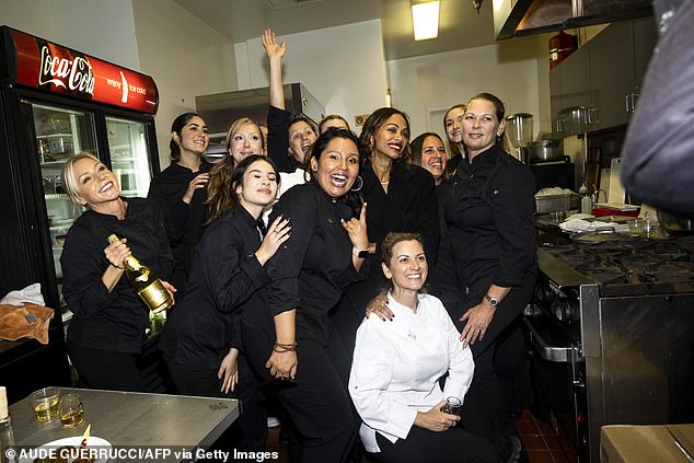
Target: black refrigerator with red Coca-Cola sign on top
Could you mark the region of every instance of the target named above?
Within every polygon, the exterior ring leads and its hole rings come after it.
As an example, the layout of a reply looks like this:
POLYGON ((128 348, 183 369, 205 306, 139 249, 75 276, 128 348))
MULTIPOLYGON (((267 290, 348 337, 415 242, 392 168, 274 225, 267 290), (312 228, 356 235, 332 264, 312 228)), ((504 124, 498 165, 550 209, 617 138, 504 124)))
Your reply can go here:
POLYGON ((71 312, 61 296, 60 254, 82 211, 61 185, 62 165, 89 151, 115 173, 124 196, 147 196, 159 172, 159 101, 142 73, 8 26, 0 39, 0 297, 41 282, 56 310, 48 345, 0 340, 0 384, 14 402, 69 381, 63 323, 71 312))

